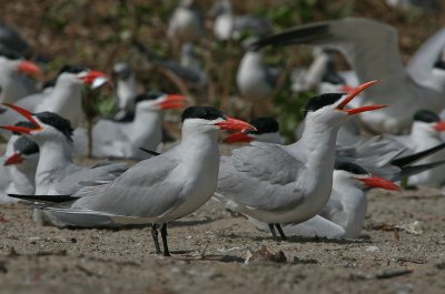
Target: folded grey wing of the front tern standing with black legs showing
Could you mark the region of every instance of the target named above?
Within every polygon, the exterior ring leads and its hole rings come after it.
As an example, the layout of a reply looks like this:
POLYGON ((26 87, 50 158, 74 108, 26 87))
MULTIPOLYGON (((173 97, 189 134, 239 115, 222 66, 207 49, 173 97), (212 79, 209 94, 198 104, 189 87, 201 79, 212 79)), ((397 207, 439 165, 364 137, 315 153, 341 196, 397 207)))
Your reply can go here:
POLYGON ((81 199, 72 209, 121 216, 162 215, 181 203, 184 183, 169 176, 178 164, 165 154, 141 161, 112 183, 79 191, 81 199))

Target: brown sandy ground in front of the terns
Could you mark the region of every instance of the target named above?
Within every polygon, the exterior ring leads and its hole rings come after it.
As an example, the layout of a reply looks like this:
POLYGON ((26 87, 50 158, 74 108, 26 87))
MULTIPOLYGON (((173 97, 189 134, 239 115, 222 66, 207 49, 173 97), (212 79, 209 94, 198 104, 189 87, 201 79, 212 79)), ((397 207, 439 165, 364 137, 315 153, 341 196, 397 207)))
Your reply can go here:
POLYGON ((0 293, 445 293, 444 209, 435 190, 374 191, 359 240, 277 243, 209 201, 170 225, 161 257, 148 227, 58 230, 2 206, 0 293), (419 234, 393 230, 415 221, 419 234), (277 256, 245 264, 257 251, 277 256))

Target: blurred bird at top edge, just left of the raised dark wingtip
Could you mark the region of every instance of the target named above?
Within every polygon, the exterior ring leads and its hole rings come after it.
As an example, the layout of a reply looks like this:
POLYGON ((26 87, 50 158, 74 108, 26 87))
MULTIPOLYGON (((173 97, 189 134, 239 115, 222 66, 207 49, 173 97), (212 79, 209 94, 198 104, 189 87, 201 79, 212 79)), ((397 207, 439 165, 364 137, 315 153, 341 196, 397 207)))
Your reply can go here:
POLYGON ((210 13, 216 17, 214 34, 220 41, 239 39, 243 32, 264 36, 273 31, 270 21, 265 18, 251 14, 235 16, 229 0, 215 2, 210 13))

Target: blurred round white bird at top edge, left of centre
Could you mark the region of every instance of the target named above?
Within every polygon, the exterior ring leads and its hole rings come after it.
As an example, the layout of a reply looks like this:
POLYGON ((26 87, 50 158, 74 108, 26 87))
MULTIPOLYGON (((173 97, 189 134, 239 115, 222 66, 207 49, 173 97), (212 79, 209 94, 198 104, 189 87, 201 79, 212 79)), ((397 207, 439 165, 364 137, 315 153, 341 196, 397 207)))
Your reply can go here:
POLYGON ((167 37, 171 40, 197 42, 204 34, 204 20, 194 0, 181 0, 168 23, 167 37))

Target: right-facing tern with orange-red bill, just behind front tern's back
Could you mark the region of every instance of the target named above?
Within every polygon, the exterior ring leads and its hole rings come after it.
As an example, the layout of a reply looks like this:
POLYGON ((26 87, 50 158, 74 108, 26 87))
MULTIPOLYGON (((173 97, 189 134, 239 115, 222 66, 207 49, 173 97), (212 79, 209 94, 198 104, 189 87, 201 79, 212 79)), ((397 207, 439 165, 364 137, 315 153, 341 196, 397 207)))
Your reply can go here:
MULTIPOLYGON (((135 115, 130 121, 99 120, 92 128, 92 155, 117 159, 147 159, 146 148, 158 150, 162 142, 164 111, 184 107, 185 97, 151 92, 135 99, 135 115)), ((86 141, 85 129, 76 131, 75 140, 86 141), (82 139, 83 138, 83 139, 82 139)), ((86 150, 77 145, 76 150, 86 150)))

